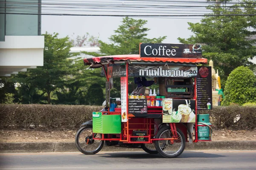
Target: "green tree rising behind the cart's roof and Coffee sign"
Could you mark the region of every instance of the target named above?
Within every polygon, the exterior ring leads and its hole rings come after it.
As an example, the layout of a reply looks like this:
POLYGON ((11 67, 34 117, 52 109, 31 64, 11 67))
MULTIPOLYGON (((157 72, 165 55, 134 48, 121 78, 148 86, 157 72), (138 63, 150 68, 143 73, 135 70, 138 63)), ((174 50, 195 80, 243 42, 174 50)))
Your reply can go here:
MULTIPOLYGON (((139 54, 139 44, 144 43, 161 43, 166 39, 158 37, 147 38, 147 31, 145 28, 146 20, 135 20, 133 18, 125 17, 122 24, 115 30, 115 34, 111 35, 109 40, 111 43, 105 43, 99 40, 99 47, 101 54, 82 51, 84 54, 99 57, 103 55, 121 55, 121 54, 139 54)), ((100 69, 95 69, 100 73, 100 69)), ((99 74, 98 74, 99 75, 99 74)), ((120 97, 120 79, 114 79, 114 88, 111 89, 111 97, 120 97)))

